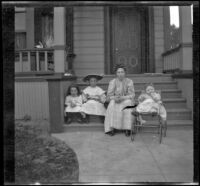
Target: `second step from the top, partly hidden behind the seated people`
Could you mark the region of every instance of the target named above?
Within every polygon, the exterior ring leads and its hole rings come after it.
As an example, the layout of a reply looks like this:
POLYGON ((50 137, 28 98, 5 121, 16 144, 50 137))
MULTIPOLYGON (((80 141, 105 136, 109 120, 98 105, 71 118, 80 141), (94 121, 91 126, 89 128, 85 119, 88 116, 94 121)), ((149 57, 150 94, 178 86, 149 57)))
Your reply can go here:
MULTIPOLYGON (((80 87, 80 89, 84 89, 85 87, 88 86, 87 83, 77 83, 80 87)), ((108 89, 108 83, 102 83, 99 82, 98 86, 100 86, 102 89, 107 90, 108 89)), ((145 83, 134 83, 134 88, 135 90, 144 90, 145 89, 146 84, 145 83)), ((159 81, 159 82, 155 82, 154 83, 155 89, 157 90, 167 90, 167 89, 177 89, 177 82, 175 81, 159 81)))

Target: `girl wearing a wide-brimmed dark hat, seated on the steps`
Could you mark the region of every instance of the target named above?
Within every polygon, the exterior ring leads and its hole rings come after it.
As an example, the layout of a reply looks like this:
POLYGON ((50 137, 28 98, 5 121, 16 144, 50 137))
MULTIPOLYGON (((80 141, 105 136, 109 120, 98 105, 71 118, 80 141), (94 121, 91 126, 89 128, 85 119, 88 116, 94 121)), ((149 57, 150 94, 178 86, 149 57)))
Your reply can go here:
MULTIPOLYGON (((87 115, 105 116, 105 91, 97 86, 97 82, 102 78, 103 77, 99 75, 88 75, 83 79, 83 81, 89 82, 89 86, 83 90, 84 104, 81 108, 81 111, 87 115)), ((87 120, 88 118, 86 119, 86 121, 87 120)))

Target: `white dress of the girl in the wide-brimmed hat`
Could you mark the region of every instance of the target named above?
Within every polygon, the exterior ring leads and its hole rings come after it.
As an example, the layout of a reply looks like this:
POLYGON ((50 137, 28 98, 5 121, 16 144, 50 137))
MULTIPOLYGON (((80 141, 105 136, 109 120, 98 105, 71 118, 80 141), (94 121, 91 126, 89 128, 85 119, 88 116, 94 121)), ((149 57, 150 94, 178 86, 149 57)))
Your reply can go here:
POLYGON ((104 102, 106 101, 105 91, 96 86, 91 87, 88 86, 83 90, 83 101, 85 102, 82 105, 81 111, 88 114, 88 115, 98 115, 98 116, 105 116, 106 108, 104 106, 104 102), (90 96, 99 96, 100 102, 92 99, 87 99, 85 96, 86 94, 90 96))

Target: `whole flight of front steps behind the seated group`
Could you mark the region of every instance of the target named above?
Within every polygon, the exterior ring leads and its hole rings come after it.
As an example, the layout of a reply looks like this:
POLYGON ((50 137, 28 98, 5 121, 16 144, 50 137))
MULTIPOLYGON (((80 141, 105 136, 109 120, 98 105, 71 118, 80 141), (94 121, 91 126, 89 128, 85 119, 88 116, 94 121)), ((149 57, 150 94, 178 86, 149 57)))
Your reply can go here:
MULTIPOLYGON (((99 82, 98 86, 107 91, 108 83, 112 80, 114 75, 106 75, 99 82)), ((182 92, 178 89, 177 82, 171 78, 170 74, 136 74, 127 75, 132 79, 135 88, 135 98, 137 99, 141 91, 144 90, 146 84, 153 83, 156 90, 161 90, 161 96, 165 108, 167 110, 168 126, 193 126, 192 112, 187 108, 187 100, 182 97, 182 92)), ((77 78, 77 84, 83 90, 87 85, 82 81, 83 77, 77 78)), ((191 91, 191 90, 188 90, 191 91)), ((144 116, 148 124, 155 124, 156 117, 144 116)), ((65 131, 88 131, 97 130, 103 131, 103 123, 100 122, 98 117, 92 116, 89 124, 76 124, 64 125, 65 131)))

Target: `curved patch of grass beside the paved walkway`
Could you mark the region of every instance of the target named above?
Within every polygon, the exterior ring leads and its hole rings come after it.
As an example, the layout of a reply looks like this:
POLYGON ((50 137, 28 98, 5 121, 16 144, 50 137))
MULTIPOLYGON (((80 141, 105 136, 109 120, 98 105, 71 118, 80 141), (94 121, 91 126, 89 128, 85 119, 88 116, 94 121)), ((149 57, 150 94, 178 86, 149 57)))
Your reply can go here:
POLYGON ((51 137, 48 122, 16 123, 15 181, 26 183, 78 182, 75 152, 63 141, 51 137))

